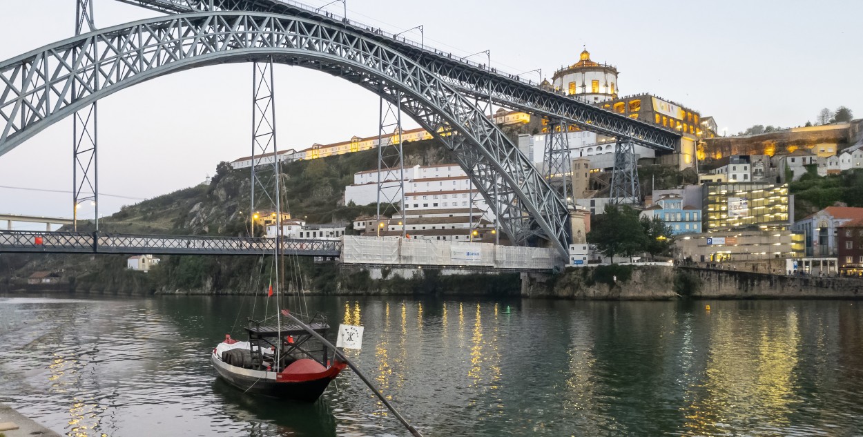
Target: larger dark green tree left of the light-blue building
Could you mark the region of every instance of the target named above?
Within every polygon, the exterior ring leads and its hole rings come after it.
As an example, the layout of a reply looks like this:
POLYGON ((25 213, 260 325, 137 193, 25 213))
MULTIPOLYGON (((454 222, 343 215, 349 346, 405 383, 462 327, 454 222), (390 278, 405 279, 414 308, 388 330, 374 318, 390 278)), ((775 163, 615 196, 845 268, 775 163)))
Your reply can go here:
POLYGON ((632 206, 606 205, 605 213, 594 216, 588 243, 614 263, 614 255, 632 257, 645 247, 645 232, 639 222, 639 212, 632 206))

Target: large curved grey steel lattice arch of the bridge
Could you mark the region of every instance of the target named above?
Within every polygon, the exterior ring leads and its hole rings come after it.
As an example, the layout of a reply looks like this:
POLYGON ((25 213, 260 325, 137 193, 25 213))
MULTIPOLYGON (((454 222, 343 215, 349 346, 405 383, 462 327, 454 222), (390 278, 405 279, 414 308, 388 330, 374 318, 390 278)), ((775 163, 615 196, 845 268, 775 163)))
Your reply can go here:
POLYGON ((317 69, 371 92, 400 90, 400 106, 443 140, 513 242, 547 238, 566 252, 567 210, 525 155, 457 90, 404 55, 338 24, 255 13, 152 18, 54 43, 0 63, 0 155, 87 104, 167 73, 262 60, 317 69), (72 52, 94 53, 72 63, 72 52), (96 79, 96 78, 99 79, 96 79), (38 80, 32 80, 38 78, 38 80), (72 95, 71 84, 79 84, 72 95), (496 187, 495 187, 496 186, 496 187))

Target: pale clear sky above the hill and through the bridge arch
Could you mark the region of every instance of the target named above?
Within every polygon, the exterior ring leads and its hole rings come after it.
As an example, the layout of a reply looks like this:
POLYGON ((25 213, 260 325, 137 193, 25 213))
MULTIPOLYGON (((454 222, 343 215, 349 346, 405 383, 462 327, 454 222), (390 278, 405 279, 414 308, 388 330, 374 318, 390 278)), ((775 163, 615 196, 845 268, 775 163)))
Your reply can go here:
MULTIPOLYGON (((99 27, 157 15, 95 1, 99 27)), ((74 3, 0 1, 0 60, 72 36, 74 3)), ((330 8, 340 12, 342 4, 330 8)), ((652 92, 714 116, 729 132, 796 126, 841 104, 863 116, 858 0, 348 0, 348 15, 391 31, 423 24, 427 45, 454 54, 488 48, 495 66, 542 68, 549 78, 586 45, 593 60, 618 67, 622 94, 652 92)), ((102 192, 150 198, 204 180, 218 161, 249 155, 251 69, 199 68, 102 100, 102 192)), ((276 81, 280 149, 376 132, 378 102, 369 92, 288 66, 276 69, 276 81)), ((67 119, 0 156, 0 186, 70 190, 71 136, 67 119)), ((100 209, 130 202, 104 197, 100 209)), ((69 217, 71 203, 71 194, 0 188, 0 212, 69 217)))

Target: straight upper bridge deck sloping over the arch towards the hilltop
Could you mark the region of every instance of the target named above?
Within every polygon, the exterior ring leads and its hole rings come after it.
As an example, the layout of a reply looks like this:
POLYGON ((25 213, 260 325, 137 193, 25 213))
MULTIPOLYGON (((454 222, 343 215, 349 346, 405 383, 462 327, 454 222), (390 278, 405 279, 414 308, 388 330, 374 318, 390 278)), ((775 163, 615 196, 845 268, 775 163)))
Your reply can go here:
MULTIPOLYGON (((273 12, 287 16, 303 16, 318 22, 333 22, 312 12, 312 8, 290 0, 118 0, 148 9, 168 13, 198 10, 248 10, 273 12)), ((490 73, 487 69, 471 65, 434 51, 424 50, 407 41, 399 41, 351 22, 339 22, 359 35, 392 48, 418 62, 431 73, 456 86, 463 94, 477 99, 488 99, 507 108, 527 111, 540 117, 562 119, 585 130, 639 142, 648 148, 672 151, 677 148, 681 135, 657 125, 621 116, 613 111, 598 108, 571 96, 527 84, 507 74, 490 73)))

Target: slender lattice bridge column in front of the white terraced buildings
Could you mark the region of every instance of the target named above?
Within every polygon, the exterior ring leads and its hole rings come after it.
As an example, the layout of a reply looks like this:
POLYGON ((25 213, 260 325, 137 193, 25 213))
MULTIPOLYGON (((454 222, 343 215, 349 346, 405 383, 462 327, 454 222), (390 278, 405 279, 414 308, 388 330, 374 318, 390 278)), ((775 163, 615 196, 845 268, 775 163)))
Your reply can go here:
MULTIPOLYGON (((382 218, 387 214, 393 217, 401 212, 401 237, 406 236, 407 220, 405 210, 405 155, 401 147, 401 91, 393 92, 395 102, 385 100, 381 92, 378 107, 378 193, 377 193, 377 235, 387 231, 382 218), (392 132, 392 133, 390 133, 392 132), (383 226, 381 226, 383 225, 383 226)), ((416 177, 416 175, 414 175, 416 177)))

